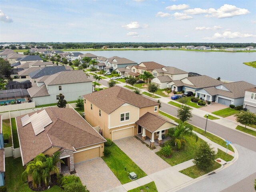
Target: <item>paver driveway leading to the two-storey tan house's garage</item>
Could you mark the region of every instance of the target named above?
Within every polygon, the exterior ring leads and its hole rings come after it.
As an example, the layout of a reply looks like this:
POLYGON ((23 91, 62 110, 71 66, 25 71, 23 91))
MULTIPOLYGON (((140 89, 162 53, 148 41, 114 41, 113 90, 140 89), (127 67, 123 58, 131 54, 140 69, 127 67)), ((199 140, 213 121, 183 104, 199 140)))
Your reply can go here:
POLYGON ((115 140, 114 143, 148 175, 170 167, 134 137, 115 140))

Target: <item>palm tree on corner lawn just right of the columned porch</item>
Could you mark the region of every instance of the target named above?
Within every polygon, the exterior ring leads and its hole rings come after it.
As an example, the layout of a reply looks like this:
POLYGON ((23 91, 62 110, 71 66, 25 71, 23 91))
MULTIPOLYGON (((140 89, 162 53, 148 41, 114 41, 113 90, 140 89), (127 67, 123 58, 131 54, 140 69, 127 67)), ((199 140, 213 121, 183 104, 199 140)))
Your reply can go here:
POLYGON ((170 128, 168 134, 175 139, 175 146, 177 145, 178 149, 181 148, 182 143, 186 144, 184 136, 192 136, 196 138, 196 142, 198 141, 198 136, 193 132, 193 127, 186 122, 180 123, 175 128, 170 128))

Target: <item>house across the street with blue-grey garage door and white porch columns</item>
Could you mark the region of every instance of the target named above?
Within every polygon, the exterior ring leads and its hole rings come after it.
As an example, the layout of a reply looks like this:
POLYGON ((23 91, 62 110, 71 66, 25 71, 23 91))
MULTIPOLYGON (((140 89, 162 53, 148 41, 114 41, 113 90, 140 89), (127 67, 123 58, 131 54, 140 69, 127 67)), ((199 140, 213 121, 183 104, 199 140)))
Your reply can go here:
MULTIPOLYGON (((244 104, 245 90, 256 87, 245 81, 223 83, 196 90, 196 96, 207 101, 215 101, 223 105, 240 106, 244 104)), ((247 96, 248 97, 248 96, 247 96)))

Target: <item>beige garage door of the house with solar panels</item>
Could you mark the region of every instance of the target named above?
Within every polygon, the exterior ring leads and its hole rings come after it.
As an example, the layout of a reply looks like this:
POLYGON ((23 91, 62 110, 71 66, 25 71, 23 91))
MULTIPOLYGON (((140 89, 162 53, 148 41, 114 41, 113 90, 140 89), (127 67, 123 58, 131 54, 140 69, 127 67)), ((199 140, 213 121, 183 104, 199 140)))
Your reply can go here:
POLYGON ((100 156, 100 147, 74 153, 74 163, 86 161, 100 156))

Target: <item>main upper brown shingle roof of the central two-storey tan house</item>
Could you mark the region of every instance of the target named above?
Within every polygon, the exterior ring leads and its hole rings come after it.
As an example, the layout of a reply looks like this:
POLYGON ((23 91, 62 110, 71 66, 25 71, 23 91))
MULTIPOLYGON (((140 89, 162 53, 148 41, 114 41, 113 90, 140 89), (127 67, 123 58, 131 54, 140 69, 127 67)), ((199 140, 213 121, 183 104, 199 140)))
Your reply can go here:
POLYGON ((138 108, 159 105, 155 101, 152 101, 119 86, 101 90, 100 92, 86 94, 84 95, 84 98, 107 114, 112 113, 114 110, 125 103, 134 105, 138 108))

